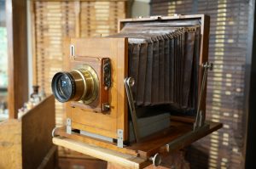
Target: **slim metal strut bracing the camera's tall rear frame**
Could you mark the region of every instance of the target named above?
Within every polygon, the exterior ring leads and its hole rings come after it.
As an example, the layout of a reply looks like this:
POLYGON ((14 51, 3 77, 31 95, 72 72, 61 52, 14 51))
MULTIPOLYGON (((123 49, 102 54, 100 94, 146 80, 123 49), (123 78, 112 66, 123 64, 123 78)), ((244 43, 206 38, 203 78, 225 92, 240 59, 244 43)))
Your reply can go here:
POLYGON ((204 74, 203 74, 203 78, 202 78, 202 82, 201 82, 201 91, 200 91, 199 101, 197 104, 197 112, 196 112, 195 123, 194 123, 194 131, 197 128, 202 127, 205 123, 206 118, 205 118, 205 114, 203 114, 203 112, 201 110, 201 99, 202 99, 202 95, 203 95, 206 85, 207 85, 208 70, 212 70, 213 64, 206 62, 206 63, 202 64, 202 67, 204 70, 204 74))

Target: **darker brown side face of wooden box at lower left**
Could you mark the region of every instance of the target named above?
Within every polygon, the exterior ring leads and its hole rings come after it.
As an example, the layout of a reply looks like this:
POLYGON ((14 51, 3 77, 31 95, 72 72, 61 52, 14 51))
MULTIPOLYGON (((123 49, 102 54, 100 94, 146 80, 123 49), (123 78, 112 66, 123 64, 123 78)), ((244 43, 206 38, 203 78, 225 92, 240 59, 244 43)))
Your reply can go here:
POLYGON ((51 95, 21 118, 24 168, 38 167, 52 147, 51 132, 55 127, 54 103, 54 96, 51 95))

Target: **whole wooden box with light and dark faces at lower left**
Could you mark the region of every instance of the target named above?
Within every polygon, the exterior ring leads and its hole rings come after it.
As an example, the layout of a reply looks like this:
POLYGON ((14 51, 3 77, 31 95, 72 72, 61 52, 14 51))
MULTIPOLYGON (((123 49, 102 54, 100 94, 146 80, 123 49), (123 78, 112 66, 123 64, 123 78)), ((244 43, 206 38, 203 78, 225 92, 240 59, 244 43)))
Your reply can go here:
POLYGON ((54 117, 51 95, 20 119, 1 122, 0 168, 55 168, 55 160, 51 158, 56 150, 51 142, 54 117))

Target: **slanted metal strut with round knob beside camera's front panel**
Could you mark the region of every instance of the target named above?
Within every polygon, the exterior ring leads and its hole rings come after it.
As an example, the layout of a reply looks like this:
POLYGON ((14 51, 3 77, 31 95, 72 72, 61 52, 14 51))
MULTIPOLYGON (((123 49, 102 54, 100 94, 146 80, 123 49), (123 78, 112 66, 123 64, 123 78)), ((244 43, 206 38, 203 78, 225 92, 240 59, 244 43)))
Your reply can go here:
POLYGON ((136 114, 135 104, 134 104, 133 95, 132 95, 132 91, 131 91, 131 87, 133 85, 134 85, 134 79, 132 77, 126 77, 125 78, 125 90, 126 90, 129 107, 130 107, 130 112, 131 112, 133 131, 135 134, 136 141, 139 142, 140 134, 139 134, 138 124, 137 124, 137 114, 136 114))

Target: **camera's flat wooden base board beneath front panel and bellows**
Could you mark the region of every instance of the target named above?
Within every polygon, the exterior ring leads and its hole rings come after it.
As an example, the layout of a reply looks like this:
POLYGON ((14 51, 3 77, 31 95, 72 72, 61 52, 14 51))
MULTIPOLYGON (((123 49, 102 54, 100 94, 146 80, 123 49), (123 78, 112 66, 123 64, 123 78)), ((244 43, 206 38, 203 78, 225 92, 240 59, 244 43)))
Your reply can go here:
POLYGON ((126 155, 139 156, 147 160, 156 153, 167 153, 168 150, 182 149, 192 144, 196 140, 205 137, 207 134, 214 132, 222 127, 221 123, 207 121, 204 127, 193 131, 193 125, 186 122, 173 121, 171 127, 157 132, 147 138, 143 138, 139 143, 134 143, 124 148, 119 148, 114 143, 102 141, 96 138, 90 138, 79 133, 73 132, 67 134, 66 127, 57 128, 55 135, 64 138, 70 138, 86 144, 96 145, 104 149, 111 149, 126 155), (169 144, 166 147, 166 144, 169 144), (168 149, 166 149, 168 148, 168 149))

